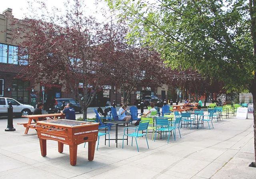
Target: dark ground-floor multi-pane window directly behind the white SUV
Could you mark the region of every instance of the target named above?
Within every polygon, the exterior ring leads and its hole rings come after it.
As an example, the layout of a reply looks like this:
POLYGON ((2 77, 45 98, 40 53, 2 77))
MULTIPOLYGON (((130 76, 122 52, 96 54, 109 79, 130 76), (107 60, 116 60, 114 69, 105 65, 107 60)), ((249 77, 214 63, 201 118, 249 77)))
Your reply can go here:
POLYGON ((29 102, 29 81, 12 80, 12 98, 22 104, 29 102))

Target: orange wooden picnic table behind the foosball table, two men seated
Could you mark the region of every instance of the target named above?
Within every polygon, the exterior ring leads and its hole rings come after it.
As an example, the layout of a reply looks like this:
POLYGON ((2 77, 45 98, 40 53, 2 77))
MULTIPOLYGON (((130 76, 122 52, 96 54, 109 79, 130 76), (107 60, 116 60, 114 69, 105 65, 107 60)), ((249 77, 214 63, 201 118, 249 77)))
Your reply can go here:
POLYGON ((39 121, 39 118, 50 118, 50 119, 54 119, 54 118, 58 118, 61 117, 62 119, 65 119, 65 114, 61 114, 61 113, 56 113, 56 114, 38 114, 38 115, 27 115, 27 116, 22 116, 24 118, 28 118, 28 122, 26 123, 17 123, 20 125, 23 125, 26 130, 25 130, 25 134, 28 134, 28 130, 29 128, 32 129, 37 129, 37 125, 36 122, 39 121), (36 120, 36 122, 32 122, 32 120, 36 120))

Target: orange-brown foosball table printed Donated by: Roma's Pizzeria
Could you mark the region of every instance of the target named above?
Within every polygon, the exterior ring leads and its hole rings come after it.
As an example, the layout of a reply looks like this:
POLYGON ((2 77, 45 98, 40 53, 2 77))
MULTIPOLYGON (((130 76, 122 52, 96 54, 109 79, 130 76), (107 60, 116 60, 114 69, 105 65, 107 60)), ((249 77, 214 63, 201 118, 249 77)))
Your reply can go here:
POLYGON ((41 155, 46 156, 46 140, 58 141, 58 151, 63 152, 63 144, 69 145, 70 164, 76 165, 77 146, 88 142, 88 160, 94 159, 94 150, 98 139, 96 122, 75 120, 47 120, 37 122, 37 134, 40 142, 41 155))

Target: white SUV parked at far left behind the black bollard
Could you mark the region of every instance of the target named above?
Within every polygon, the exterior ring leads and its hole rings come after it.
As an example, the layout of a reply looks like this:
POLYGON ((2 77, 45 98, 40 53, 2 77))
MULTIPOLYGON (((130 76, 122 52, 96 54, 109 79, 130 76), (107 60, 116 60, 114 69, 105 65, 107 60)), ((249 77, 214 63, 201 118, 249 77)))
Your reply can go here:
POLYGON ((12 98, 0 97, 0 116, 7 116, 9 102, 12 102, 14 116, 26 116, 32 114, 34 107, 27 104, 20 104, 12 98))

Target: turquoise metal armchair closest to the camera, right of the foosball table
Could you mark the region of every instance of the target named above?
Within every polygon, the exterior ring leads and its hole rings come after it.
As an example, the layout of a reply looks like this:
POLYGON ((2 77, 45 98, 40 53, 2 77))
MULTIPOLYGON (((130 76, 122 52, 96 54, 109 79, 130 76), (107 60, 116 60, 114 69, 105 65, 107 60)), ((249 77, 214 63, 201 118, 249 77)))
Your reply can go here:
MULTIPOLYGON (((133 142, 133 138, 135 138, 138 151, 139 151, 138 143, 137 143, 137 138, 138 137, 145 136, 146 141, 147 141, 147 145, 148 145, 148 139, 147 139, 148 124, 149 124, 149 120, 144 120, 144 121, 140 121, 140 124, 136 128, 124 128, 123 146, 122 146, 122 148, 124 148, 124 136, 132 137, 132 142, 133 142), (135 130, 135 132, 133 132, 131 134, 126 134, 127 133, 126 130, 128 130, 128 129, 135 130), (140 132, 142 132, 143 130, 146 130, 146 133, 140 134, 140 132)), ((148 149, 149 149, 149 146, 148 146, 148 149)))

